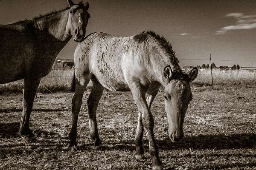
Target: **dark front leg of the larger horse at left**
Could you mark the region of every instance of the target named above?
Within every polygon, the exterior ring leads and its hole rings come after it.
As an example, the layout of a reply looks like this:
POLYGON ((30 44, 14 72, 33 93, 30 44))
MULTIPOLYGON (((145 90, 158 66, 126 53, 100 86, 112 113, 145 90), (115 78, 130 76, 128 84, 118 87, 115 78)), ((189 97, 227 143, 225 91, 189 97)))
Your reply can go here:
POLYGON ((29 129, 29 118, 39 83, 40 78, 24 79, 20 136, 25 136, 28 141, 35 141, 35 135, 32 133, 32 130, 29 129))

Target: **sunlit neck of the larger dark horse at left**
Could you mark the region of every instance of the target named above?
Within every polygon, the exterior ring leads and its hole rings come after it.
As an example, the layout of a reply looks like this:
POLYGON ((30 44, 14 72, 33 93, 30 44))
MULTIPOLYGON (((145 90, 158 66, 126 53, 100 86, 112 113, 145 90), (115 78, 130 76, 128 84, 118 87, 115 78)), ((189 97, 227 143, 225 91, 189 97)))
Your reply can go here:
MULTIPOLYGON (((54 37, 56 41, 68 42, 72 35, 66 32, 66 26, 68 21, 69 11, 61 11, 57 14, 53 14, 47 17, 35 20, 35 28, 38 29, 38 36, 54 37), (41 32, 47 33, 42 34, 41 32)), ((37 36, 37 35, 36 35, 37 36)))

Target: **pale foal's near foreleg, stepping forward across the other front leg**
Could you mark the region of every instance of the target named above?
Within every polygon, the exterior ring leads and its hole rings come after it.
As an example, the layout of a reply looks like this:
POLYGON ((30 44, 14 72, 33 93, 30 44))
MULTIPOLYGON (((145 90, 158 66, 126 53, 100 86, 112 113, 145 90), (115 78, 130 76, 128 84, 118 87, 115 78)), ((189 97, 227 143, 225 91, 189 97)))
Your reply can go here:
POLYGON ((133 82, 129 86, 140 112, 142 123, 148 132, 149 153, 153 161, 152 168, 154 170, 161 170, 163 169, 163 164, 160 161, 158 147, 154 139, 154 118, 148 107, 145 91, 143 91, 142 86, 137 82, 133 82))

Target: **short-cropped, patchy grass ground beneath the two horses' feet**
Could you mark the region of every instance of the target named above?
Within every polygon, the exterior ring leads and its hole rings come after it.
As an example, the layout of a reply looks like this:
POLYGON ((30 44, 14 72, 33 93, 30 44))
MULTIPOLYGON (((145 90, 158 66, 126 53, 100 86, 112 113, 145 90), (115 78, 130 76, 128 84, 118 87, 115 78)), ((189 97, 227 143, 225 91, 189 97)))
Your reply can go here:
MULTIPOLYGON (((256 170, 256 87, 192 88, 185 117, 185 139, 168 136, 163 91, 153 102, 154 134, 166 170, 256 170)), ((0 96, 0 169, 4 170, 147 170, 151 169, 148 138, 146 159, 135 159, 137 108, 131 92, 105 91, 97 111, 103 147, 89 138, 86 100, 79 114, 79 151, 68 153, 72 93, 38 94, 30 119, 37 142, 18 135, 22 94, 0 96)))

